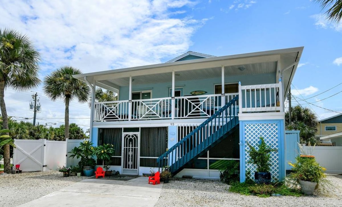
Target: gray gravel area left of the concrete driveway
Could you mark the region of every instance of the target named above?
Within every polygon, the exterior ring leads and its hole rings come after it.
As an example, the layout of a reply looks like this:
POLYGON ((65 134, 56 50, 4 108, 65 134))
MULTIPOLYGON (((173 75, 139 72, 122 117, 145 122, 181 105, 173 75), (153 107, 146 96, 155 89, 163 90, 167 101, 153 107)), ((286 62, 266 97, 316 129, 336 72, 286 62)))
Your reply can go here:
POLYGON ((57 171, 0 175, 0 206, 18 206, 85 178, 63 177, 62 172, 57 171))

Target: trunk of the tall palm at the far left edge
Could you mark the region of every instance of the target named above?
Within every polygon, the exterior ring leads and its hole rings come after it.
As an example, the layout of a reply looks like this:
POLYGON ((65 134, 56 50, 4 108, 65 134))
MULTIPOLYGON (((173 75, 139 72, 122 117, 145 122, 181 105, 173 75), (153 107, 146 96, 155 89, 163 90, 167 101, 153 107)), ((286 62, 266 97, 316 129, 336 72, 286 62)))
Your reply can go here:
MULTIPOLYGON (((6 105, 4 100, 4 92, 5 92, 5 82, 0 82, 0 108, 2 115, 2 128, 8 129, 8 116, 6 111, 6 105)), ((8 133, 7 133, 8 134, 8 133)), ((11 173, 11 157, 10 157, 10 146, 6 144, 3 148, 3 166, 4 172, 11 173)))

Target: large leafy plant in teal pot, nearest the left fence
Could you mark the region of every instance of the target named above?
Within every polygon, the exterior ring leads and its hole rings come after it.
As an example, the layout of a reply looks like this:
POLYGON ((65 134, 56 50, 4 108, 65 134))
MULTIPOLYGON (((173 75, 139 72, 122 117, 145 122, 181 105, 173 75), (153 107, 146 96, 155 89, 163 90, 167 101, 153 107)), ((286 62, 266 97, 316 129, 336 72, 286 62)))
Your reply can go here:
POLYGON ((95 159, 93 158, 95 148, 92 145, 92 142, 84 141, 80 143, 80 146, 74 147, 74 149, 68 152, 71 153, 70 157, 81 158, 78 166, 80 169, 83 169, 83 174, 88 177, 94 175, 94 167, 96 165, 95 159))

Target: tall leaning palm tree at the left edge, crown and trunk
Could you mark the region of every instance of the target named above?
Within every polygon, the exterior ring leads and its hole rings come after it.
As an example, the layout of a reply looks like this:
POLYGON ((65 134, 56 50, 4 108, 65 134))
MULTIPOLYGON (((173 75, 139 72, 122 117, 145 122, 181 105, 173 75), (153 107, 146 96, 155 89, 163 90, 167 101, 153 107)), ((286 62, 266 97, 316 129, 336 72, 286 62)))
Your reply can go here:
MULTIPOLYGON (((2 128, 8 129, 8 115, 4 91, 11 87, 18 91, 39 85, 40 54, 27 36, 9 29, 0 29, 0 108, 2 128)), ((4 146, 4 172, 10 173, 10 146, 4 146)))

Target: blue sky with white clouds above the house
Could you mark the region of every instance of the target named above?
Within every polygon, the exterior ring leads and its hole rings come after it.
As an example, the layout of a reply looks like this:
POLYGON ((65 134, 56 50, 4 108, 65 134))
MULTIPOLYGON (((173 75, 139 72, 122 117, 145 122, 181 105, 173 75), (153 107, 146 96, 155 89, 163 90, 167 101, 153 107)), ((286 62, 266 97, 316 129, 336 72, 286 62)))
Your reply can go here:
MULTIPOLYGON (((1 0, 0 28, 30 37, 42 54, 41 78, 66 64, 92 72, 162 63, 187 51, 222 56, 304 46, 295 96, 308 98, 342 82, 342 24, 329 23, 310 0, 108 2, 1 0)), ((50 101, 41 87, 32 91, 42 104, 38 121, 63 124, 63 102, 50 101)), ((319 101, 340 91, 342 85, 307 101, 342 112, 342 93, 319 101)), ((30 94, 9 89, 9 115, 31 118, 30 94)), ((311 107, 320 119, 337 114, 311 107)), ((70 117, 78 119, 70 121, 87 128, 89 113, 73 102, 70 117)))

